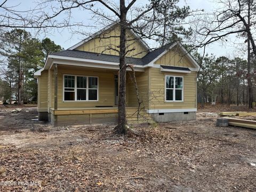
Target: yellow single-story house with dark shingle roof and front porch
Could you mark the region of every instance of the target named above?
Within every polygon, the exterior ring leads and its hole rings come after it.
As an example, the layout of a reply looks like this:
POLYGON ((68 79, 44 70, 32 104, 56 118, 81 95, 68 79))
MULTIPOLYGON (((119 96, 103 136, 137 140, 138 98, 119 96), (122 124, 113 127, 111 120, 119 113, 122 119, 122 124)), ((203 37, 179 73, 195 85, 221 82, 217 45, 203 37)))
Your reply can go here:
MULTIPOLYGON (((117 122, 119 27, 110 25, 68 50, 48 55, 38 79, 38 118, 53 125, 117 122), (117 36, 117 37, 116 37, 117 36), (103 53, 102 53, 103 52, 103 53)), ((146 119, 171 122, 196 118, 197 62, 180 43, 154 51, 127 31, 126 62, 134 65, 146 119), (147 118, 146 118, 147 117, 147 118)), ((127 69, 127 122, 138 102, 127 69)), ((132 117, 131 117, 132 116, 132 117)))

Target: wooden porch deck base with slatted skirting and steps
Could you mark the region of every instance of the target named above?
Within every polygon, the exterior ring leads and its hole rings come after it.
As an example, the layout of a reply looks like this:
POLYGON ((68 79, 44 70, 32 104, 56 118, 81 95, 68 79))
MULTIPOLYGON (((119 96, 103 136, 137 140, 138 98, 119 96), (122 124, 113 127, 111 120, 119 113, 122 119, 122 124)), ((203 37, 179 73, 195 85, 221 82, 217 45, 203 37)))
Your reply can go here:
MULTIPOLYGON (((137 107, 126 107, 127 124, 152 123, 153 119, 146 112, 141 110, 137 118, 137 107)), ((118 122, 117 107, 97 108, 50 108, 50 119, 54 126, 78 125, 78 124, 116 124, 118 122)))

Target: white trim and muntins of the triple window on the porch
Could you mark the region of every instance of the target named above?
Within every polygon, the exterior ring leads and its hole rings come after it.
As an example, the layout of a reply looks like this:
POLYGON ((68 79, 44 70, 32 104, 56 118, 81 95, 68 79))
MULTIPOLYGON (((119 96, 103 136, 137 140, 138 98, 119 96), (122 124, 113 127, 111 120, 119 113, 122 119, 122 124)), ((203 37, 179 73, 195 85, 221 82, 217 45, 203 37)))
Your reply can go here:
MULTIPOLYGON (((97 76, 90 76, 90 75, 70 75, 70 74, 63 74, 63 91, 62 91, 62 101, 63 102, 95 102, 95 101, 99 101, 99 77, 97 76), (65 100, 65 75, 66 76, 75 76, 75 100, 65 100), (77 77, 86 77, 86 88, 78 88, 78 89, 85 89, 86 90, 86 100, 77 100, 77 77), (98 86, 97 86, 97 100, 89 100, 89 77, 96 77, 98 79, 98 86)), ((68 88, 67 88, 68 89, 68 88)), ((69 89, 73 89, 70 88, 69 89)), ((96 89, 92 89, 90 88, 90 90, 96 90, 96 89)), ((67 91, 68 92, 68 91, 67 91)), ((70 91, 73 92, 73 91, 70 91)))

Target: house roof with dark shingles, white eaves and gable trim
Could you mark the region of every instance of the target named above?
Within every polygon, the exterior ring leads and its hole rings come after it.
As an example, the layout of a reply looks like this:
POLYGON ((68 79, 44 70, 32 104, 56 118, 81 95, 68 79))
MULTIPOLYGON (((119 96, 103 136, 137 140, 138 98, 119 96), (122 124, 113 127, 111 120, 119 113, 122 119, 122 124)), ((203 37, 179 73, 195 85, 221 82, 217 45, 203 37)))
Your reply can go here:
MULTIPOLYGON (((42 69, 39 69, 38 71, 36 71, 34 73, 34 76, 38 77, 41 75, 41 72, 43 70, 45 70, 45 69, 47 70, 47 69, 51 68, 51 66, 53 65, 54 59, 58 60, 58 61, 55 60, 55 62, 56 61, 57 62, 65 61, 65 64, 69 63, 69 65, 71 65, 70 61, 72 61, 72 62, 75 61, 75 62, 80 62, 79 63, 80 66, 96 67, 94 64, 97 64, 98 67, 100 67, 100 68, 118 69, 118 66, 119 66, 119 56, 118 55, 110 55, 110 54, 102 54, 102 53, 100 54, 100 53, 94 53, 94 52, 75 50, 76 47, 82 45, 83 43, 85 43, 87 41, 90 41, 91 38, 101 34, 102 31, 104 31, 104 30, 110 29, 115 24, 116 23, 114 23, 114 24, 112 23, 111 25, 107 26, 106 28, 93 34, 91 37, 88 37, 88 38, 84 39, 83 41, 77 43, 76 45, 70 47, 68 50, 49 54, 46 58, 44 67, 42 69)), ((143 71, 144 70, 143 68, 154 67, 155 61, 157 61, 165 53, 170 51, 174 46, 179 46, 181 48, 180 50, 184 53, 184 55, 188 58, 188 60, 194 66, 194 68, 191 68, 191 69, 193 69, 195 71, 198 71, 200 69, 200 66, 198 65, 198 63, 195 61, 195 59, 191 56, 191 54, 185 49, 185 47, 181 43, 173 42, 173 43, 164 45, 162 47, 159 47, 158 49, 155 49, 154 51, 150 51, 150 48, 148 47, 148 45, 145 42, 143 42, 142 39, 140 39, 139 36, 134 31, 132 31, 132 33, 133 33, 133 35, 138 37, 138 40, 141 42, 141 44, 145 45, 147 50, 149 50, 149 52, 143 58, 126 57, 126 62, 128 64, 136 65, 137 68, 139 68, 137 70, 143 71)), ((174 70, 174 69, 172 69, 172 70, 174 70)))

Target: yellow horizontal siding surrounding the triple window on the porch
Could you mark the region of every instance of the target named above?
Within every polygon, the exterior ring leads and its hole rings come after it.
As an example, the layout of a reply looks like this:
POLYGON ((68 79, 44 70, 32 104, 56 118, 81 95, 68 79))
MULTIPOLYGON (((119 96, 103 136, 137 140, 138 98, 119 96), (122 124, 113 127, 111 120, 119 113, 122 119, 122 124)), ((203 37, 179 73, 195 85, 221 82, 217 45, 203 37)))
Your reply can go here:
MULTIPOLYGON (((112 70, 70 67, 58 65, 58 108, 86 108, 95 106, 114 106, 114 75, 112 70), (63 101, 63 75, 98 77, 98 101, 63 101)), ((54 106, 54 74, 52 73, 52 106, 54 106)))

